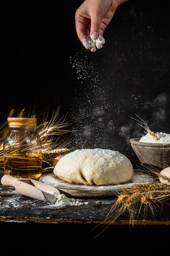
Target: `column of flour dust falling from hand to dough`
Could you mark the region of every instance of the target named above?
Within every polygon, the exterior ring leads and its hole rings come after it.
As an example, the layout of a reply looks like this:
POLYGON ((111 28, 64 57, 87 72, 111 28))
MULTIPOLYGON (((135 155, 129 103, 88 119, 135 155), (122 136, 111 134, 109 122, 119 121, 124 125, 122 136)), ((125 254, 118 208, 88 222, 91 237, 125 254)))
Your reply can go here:
POLYGON ((71 56, 71 65, 75 70, 75 146, 119 150, 114 143, 112 121, 108 120, 110 103, 98 61, 91 52, 77 51, 71 56))

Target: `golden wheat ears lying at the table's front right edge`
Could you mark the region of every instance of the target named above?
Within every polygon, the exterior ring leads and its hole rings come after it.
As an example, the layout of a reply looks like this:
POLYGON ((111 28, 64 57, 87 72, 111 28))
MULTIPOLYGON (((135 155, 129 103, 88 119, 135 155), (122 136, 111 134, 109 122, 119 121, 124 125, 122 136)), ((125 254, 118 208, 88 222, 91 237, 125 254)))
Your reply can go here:
MULTIPOLYGON (((146 172, 152 176, 152 182, 146 184, 134 184, 132 187, 117 193, 115 202, 109 207, 106 218, 99 224, 97 228, 97 236, 101 234, 109 225, 119 220, 119 217, 128 215, 129 225, 132 228, 135 221, 140 220, 144 223, 151 211, 152 218, 155 220, 155 213, 163 210, 163 202, 170 200, 170 185, 161 183, 159 177, 163 180, 170 178, 160 175, 159 170, 153 166, 143 166, 142 172, 146 172)), ((140 168, 141 171, 141 167, 140 168)))

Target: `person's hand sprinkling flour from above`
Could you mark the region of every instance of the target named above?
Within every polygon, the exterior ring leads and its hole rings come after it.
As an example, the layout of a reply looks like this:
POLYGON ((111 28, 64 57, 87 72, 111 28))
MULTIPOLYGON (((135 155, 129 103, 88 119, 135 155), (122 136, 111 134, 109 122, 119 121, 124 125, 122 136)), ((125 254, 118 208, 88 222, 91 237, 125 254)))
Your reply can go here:
POLYGON ((103 32, 120 4, 128 0, 85 0, 75 13, 75 28, 86 49, 95 52, 105 43, 103 32))

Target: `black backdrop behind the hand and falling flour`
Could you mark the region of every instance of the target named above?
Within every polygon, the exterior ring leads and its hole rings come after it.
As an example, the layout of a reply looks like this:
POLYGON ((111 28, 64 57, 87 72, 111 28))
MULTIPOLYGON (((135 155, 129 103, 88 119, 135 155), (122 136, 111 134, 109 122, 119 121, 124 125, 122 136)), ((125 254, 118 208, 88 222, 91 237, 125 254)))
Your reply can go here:
POLYGON ((1 9, 0 121, 11 108, 60 106, 77 130, 73 146, 134 154, 129 139, 144 129, 133 118, 170 133, 168 1, 119 6, 97 52, 86 50, 75 31, 82 2, 12 2, 1 9))

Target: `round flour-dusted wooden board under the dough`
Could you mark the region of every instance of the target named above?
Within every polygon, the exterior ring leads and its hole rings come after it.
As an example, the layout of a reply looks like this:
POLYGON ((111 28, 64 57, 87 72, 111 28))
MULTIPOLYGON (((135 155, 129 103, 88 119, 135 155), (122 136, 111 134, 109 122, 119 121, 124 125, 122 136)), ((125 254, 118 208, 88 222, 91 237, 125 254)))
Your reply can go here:
POLYGON ((152 178, 140 171, 134 171, 132 180, 124 184, 112 186, 91 186, 76 183, 68 183, 58 178, 54 173, 42 175, 40 182, 44 182, 56 187, 60 193, 72 198, 113 198, 117 192, 129 189, 134 184, 146 184, 152 181, 152 178))

